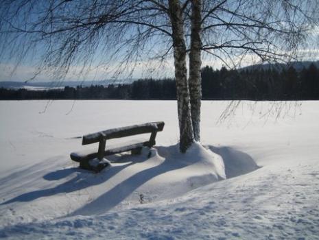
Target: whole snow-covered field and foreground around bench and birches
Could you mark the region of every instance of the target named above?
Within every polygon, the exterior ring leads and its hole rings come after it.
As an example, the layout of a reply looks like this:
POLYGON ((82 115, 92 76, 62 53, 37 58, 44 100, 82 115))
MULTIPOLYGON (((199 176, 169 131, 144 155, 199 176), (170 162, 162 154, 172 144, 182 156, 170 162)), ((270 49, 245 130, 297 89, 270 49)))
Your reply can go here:
POLYGON ((202 102, 204 147, 180 154, 175 101, 0 101, 0 238, 319 239, 319 101, 229 104, 202 102), (149 121, 150 158, 69 158, 149 121))

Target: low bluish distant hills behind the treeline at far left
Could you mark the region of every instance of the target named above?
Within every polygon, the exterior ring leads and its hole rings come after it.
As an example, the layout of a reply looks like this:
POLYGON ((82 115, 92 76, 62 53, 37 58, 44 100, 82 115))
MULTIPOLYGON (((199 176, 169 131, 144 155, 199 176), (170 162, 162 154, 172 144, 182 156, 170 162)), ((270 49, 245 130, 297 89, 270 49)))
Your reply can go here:
POLYGON ((108 86, 110 84, 130 84, 134 82, 134 79, 126 80, 102 80, 102 81, 59 81, 59 82, 14 82, 14 81, 4 81, 0 82, 0 88, 25 88, 29 90, 45 90, 45 89, 57 89, 64 88, 64 86, 91 86, 91 85, 102 85, 108 86))

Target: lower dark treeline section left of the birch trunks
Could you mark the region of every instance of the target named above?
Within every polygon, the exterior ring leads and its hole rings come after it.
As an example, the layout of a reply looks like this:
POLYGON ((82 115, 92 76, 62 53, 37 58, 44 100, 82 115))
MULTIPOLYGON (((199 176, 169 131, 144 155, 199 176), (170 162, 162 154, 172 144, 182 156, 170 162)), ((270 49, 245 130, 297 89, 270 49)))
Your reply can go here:
POLYGON ((132 84, 65 86, 40 91, 0 88, 0 99, 176 99, 176 86, 172 79, 146 79, 132 84))

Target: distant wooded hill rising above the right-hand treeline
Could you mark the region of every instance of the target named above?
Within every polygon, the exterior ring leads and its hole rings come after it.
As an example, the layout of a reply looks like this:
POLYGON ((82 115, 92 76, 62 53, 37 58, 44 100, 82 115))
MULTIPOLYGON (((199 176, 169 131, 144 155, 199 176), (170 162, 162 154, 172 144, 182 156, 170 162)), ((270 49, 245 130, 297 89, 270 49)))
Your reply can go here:
POLYGON ((290 63, 266 63, 266 64, 254 64, 248 67, 243 67, 241 70, 255 70, 255 69, 275 69, 277 71, 281 71, 282 69, 287 69, 292 66, 296 71, 301 71, 305 67, 306 69, 313 63, 317 68, 319 68, 319 60, 318 61, 301 61, 301 62, 290 62, 290 63))

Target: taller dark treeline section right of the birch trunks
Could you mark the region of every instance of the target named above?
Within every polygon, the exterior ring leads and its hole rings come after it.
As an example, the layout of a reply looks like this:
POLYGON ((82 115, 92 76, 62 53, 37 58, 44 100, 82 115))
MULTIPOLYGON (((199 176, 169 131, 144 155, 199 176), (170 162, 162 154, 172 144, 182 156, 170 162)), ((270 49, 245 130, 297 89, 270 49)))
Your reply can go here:
POLYGON ((314 64, 296 71, 282 69, 213 71, 202 69, 202 96, 205 99, 292 100, 319 99, 319 69, 314 64))

